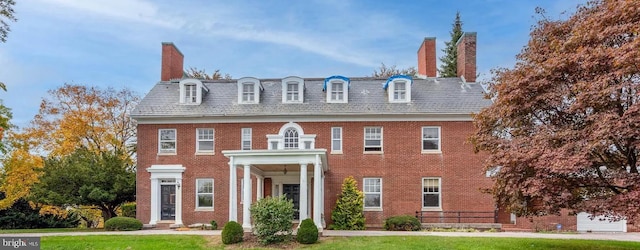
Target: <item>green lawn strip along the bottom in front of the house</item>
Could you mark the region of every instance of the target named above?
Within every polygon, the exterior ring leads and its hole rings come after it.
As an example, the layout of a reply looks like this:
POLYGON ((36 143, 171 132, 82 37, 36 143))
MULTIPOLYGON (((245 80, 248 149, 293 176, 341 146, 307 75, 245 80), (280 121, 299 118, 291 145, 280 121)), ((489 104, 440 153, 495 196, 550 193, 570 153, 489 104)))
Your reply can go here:
MULTIPOLYGON (((224 249, 220 236, 93 235, 43 237, 42 249, 224 249)), ((254 244, 249 245, 255 247, 254 244)), ((640 242, 437 236, 333 237, 305 249, 640 249, 640 242)), ((241 247, 234 245, 233 248, 241 247)), ((245 246, 246 247, 246 246, 245 246)))

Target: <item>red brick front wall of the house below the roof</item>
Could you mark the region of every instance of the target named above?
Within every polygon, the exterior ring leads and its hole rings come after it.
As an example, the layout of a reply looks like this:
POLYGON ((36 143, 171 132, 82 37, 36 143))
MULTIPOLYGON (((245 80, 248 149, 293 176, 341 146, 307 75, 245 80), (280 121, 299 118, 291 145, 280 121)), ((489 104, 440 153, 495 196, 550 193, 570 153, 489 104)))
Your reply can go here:
MULTIPOLYGON (((161 124, 138 125, 138 219, 149 221, 150 174, 153 164, 182 164, 183 222, 219 224, 228 220, 229 159, 222 150, 240 149, 241 128, 253 129, 253 149, 266 149, 266 134, 277 134, 284 122, 243 124, 161 124), (177 154, 157 154, 158 129, 177 129, 177 154), (196 128, 215 129, 215 155, 196 155, 196 128), (195 179, 214 179, 214 211, 195 211, 195 179)), ((362 189, 365 177, 382 178, 382 211, 367 211, 370 226, 380 226, 384 218, 400 214, 414 215, 422 207, 422 178, 442 178, 443 211, 493 211, 489 195, 479 189, 491 185, 482 171, 482 155, 474 154, 467 138, 473 131, 471 122, 323 122, 298 123, 305 134, 316 134, 316 148, 331 149, 331 127, 343 129, 343 154, 328 153, 329 171, 325 178, 325 219, 330 223, 331 210, 341 191, 344 178, 353 176, 362 189), (383 127, 383 154, 363 154, 365 126, 383 127), (442 154, 422 154, 423 126, 440 126, 442 154)), ((242 172, 238 171, 238 178, 242 172)), ((265 183, 271 181, 266 179, 265 183)), ((240 181, 238 181, 240 185, 240 181)), ((255 188, 255 178, 253 187, 255 188)), ((238 192, 240 188, 238 188, 238 192)), ((270 192, 270 187, 265 188, 270 192)), ((252 192, 255 200, 255 192, 252 192)), ((238 199, 240 195, 238 194, 238 199)), ((310 197, 310 199, 312 199, 310 197)), ((239 203, 240 201, 238 201, 239 203)), ((242 219, 238 205, 238 219, 242 219)))

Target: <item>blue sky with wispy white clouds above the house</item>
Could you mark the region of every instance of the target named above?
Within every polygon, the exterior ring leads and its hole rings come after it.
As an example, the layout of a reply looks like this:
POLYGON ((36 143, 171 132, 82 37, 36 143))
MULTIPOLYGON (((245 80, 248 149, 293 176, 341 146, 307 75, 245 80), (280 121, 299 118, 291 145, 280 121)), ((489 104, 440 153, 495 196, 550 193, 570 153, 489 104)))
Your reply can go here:
MULTIPOLYGON (((233 78, 370 76, 381 63, 417 66, 425 37, 437 57, 456 11, 477 32, 477 72, 513 67, 532 25, 566 19, 584 0, 18 0, 0 43, 0 99, 12 123, 29 125, 47 91, 65 83, 129 88, 144 96, 160 80, 161 43, 185 68, 233 78)), ((440 61, 438 60, 438 67, 440 61)))

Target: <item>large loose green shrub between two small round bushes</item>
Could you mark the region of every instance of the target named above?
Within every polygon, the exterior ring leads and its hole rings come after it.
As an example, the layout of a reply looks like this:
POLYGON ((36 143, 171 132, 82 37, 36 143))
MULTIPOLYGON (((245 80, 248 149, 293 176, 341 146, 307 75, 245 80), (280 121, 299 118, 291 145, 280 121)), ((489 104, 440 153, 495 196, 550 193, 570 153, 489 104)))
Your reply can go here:
POLYGON ((266 245, 290 240, 293 212, 293 202, 284 196, 267 197, 251 205, 258 241, 266 245))

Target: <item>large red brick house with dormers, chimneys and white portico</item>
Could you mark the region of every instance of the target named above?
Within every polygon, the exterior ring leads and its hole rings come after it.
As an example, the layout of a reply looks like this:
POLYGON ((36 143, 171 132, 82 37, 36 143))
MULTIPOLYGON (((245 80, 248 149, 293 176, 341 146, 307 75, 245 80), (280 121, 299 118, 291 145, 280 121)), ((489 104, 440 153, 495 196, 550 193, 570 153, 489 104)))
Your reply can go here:
POLYGON ((467 141, 471 114, 491 104, 475 83, 476 34, 458 42, 458 77, 436 77, 435 44, 420 45, 414 77, 198 80, 183 77, 182 53, 163 43, 161 81, 132 113, 137 218, 250 229, 252 202, 286 195, 296 220, 322 229, 348 176, 365 194, 369 227, 416 211, 492 213, 479 191, 492 183, 484 156, 467 141))

